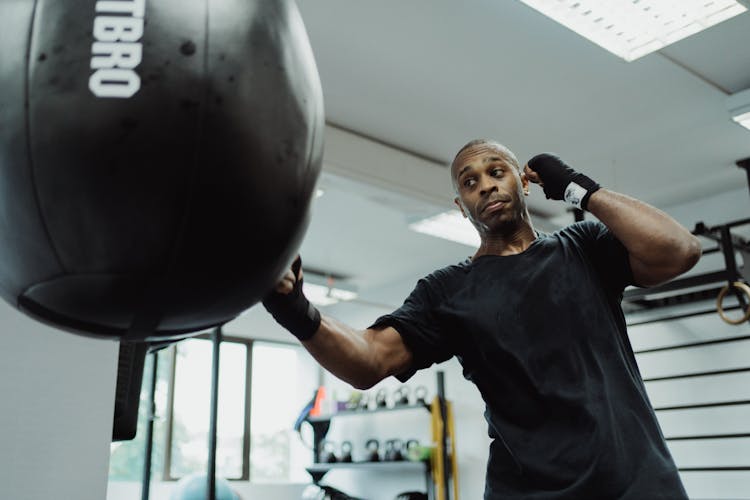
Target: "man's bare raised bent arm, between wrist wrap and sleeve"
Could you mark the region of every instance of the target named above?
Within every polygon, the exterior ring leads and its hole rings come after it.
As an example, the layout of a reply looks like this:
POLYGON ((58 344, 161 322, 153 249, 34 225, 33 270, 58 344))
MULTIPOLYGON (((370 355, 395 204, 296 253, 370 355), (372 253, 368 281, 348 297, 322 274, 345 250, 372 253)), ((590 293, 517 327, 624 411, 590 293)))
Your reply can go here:
POLYGON ((608 189, 586 207, 628 250, 634 281, 653 286, 692 268, 700 259, 698 238, 663 211, 608 189))

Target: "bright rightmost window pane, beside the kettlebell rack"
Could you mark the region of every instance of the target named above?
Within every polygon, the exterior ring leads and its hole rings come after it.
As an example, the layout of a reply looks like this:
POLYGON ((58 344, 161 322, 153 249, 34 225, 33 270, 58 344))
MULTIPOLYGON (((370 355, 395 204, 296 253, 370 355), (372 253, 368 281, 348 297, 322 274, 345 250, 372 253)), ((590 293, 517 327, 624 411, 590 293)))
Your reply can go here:
POLYGON ((309 482, 313 453, 293 428, 317 388, 317 364, 301 347, 255 342, 252 372, 251 481, 309 482))

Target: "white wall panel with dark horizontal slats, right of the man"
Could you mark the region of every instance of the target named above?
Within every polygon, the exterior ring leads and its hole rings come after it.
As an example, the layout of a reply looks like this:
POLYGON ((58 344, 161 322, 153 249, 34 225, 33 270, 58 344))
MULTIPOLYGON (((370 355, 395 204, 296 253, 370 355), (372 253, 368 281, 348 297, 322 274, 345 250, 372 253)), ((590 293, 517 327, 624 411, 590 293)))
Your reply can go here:
POLYGON ((750 499, 750 325, 723 322, 710 304, 659 314, 629 315, 628 332, 685 488, 750 499))

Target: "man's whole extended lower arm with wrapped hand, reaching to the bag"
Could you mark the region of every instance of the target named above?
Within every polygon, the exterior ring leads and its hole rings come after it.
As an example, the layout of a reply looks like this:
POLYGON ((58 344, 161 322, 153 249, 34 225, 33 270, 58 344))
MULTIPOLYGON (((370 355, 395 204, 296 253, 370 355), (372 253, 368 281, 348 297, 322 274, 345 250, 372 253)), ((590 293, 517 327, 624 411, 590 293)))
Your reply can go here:
POLYGON ((394 328, 359 331, 322 316, 305 297, 302 277, 297 258, 263 305, 325 369, 358 389, 368 389, 409 368, 412 353, 394 328))

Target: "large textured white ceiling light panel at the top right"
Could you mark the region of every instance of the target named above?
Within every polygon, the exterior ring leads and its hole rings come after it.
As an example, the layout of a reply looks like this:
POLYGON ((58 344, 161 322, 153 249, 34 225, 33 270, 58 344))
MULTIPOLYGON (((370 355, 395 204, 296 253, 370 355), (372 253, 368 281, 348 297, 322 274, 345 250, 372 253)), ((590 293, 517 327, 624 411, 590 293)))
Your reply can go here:
POLYGON ((737 0, 521 1, 626 61, 747 10, 737 0))

